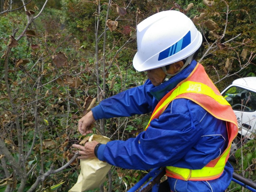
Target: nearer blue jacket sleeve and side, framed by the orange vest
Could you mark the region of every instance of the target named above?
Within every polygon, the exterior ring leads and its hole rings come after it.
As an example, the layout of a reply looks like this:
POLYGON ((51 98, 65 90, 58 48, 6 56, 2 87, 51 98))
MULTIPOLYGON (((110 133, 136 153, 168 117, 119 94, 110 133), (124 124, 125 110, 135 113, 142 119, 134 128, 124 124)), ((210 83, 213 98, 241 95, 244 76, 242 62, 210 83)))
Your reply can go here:
POLYGON ((189 106, 194 112, 191 111, 186 106, 188 101, 182 100, 184 102, 176 102, 175 107, 178 109, 172 111, 169 106, 159 119, 153 120, 148 129, 136 138, 109 141, 102 145, 98 158, 118 167, 141 170, 174 166, 178 162, 185 168, 199 169, 205 166, 219 156, 219 148, 225 145, 222 136, 214 131, 216 126, 225 124, 190 101, 189 106), (212 130, 213 136, 202 137, 205 133, 208 135, 209 130, 212 130), (197 148, 199 144, 203 147, 197 148), (190 150, 197 153, 196 163, 190 164, 190 158, 186 161, 190 150))

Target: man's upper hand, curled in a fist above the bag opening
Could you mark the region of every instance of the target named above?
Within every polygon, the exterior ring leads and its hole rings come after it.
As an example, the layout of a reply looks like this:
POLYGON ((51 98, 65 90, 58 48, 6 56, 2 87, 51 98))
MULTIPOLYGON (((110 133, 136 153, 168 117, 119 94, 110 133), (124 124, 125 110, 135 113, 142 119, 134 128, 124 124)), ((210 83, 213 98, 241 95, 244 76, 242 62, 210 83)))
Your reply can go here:
POLYGON ((78 121, 78 131, 82 135, 92 133, 91 125, 95 122, 92 111, 89 111, 84 117, 78 121))

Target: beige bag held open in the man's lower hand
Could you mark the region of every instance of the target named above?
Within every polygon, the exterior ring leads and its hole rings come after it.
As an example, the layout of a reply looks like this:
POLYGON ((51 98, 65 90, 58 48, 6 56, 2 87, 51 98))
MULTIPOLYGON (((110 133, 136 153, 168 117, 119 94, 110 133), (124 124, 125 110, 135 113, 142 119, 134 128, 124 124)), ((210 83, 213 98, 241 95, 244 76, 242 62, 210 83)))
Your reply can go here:
MULTIPOLYGON (((110 139, 102 135, 91 135, 88 142, 94 140, 106 144, 110 139)), ((81 141, 80 145, 84 143, 85 141, 81 141)), ((68 192, 83 192, 98 188, 106 180, 106 174, 111 168, 111 165, 97 158, 81 159, 80 168, 81 171, 78 175, 77 182, 68 192)))

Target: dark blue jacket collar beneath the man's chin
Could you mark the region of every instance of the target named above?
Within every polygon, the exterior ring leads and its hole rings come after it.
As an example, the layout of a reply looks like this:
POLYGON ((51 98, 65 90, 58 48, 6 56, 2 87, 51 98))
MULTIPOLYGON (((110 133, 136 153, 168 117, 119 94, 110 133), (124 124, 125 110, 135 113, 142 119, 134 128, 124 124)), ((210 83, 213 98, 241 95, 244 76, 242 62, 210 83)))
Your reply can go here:
POLYGON ((156 98, 156 100, 160 101, 170 90, 175 88, 178 83, 180 83, 189 76, 189 74, 195 68, 196 64, 197 62, 193 60, 190 65, 184 68, 180 73, 171 77, 168 81, 162 83, 161 85, 151 89, 150 93, 153 95, 153 97, 156 98))

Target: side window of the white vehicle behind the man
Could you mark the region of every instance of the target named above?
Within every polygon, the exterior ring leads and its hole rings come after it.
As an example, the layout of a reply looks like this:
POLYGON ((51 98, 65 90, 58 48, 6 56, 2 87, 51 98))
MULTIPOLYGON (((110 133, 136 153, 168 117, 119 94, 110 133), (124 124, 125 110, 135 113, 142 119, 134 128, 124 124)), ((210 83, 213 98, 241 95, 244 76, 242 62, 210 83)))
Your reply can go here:
POLYGON ((256 93, 240 88, 230 87, 222 96, 233 110, 253 112, 256 110, 256 93))

